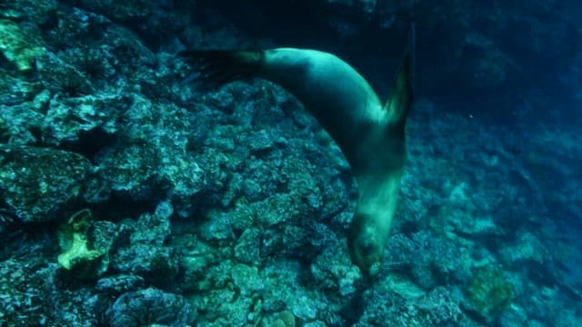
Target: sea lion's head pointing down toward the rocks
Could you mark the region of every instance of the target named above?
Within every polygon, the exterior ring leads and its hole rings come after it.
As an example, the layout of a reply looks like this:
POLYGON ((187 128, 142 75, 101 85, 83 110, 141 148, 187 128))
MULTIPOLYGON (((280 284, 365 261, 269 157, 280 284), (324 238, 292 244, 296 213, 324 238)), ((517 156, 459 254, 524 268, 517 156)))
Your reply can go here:
POLYGON ((376 227, 375 217, 356 213, 347 238, 352 263, 368 276, 376 276, 379 272, 386 246, 386 233, 376 227))

